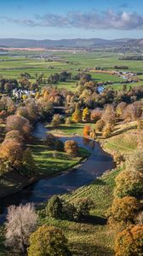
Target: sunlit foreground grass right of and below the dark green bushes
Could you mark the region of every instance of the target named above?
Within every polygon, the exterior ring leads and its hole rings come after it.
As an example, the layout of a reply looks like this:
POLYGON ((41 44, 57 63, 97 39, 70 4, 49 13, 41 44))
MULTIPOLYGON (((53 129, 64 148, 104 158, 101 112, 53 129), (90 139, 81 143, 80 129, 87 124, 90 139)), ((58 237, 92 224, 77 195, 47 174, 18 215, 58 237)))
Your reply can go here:
POLYGON ((95 203, 90 218, 85 222, 41 218, 41 224, 50 224, 64 231, 69 240, 72 255, 112 256, 114 234, 106 224, 106 210, 112 204, 114 178, 120 169, 106 173, 88 186, 77 189, 64 198, 73 202, 76 198, 89 197, 95 203))

